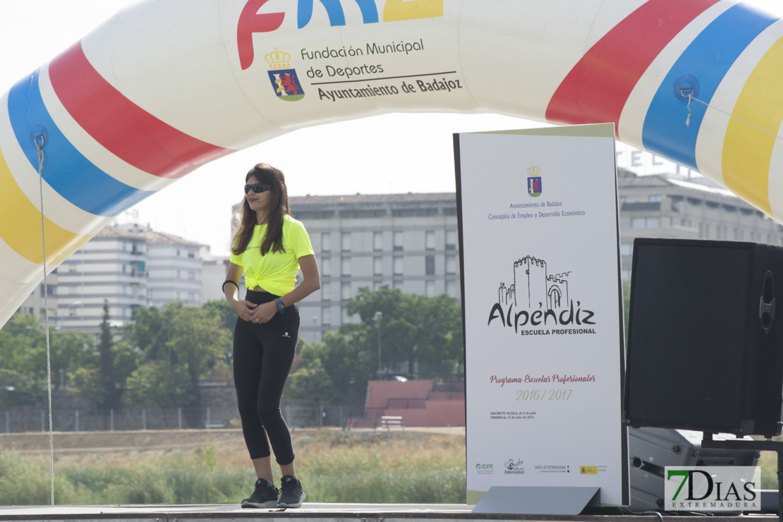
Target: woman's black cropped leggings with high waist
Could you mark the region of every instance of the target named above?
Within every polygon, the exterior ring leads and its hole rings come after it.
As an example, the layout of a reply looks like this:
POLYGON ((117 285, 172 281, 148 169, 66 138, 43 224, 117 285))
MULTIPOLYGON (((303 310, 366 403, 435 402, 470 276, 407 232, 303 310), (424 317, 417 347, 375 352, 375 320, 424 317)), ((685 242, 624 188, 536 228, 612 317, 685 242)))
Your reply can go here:
MULTIPOLYGON (((276 297, 269 292, 247 290, 245 300, 262 304, 276 297)), ((271 443, 277 463, 294 462, 290 432, 280 412, 280 396, 294 362, 298 338, 299 311, 295 305, 265 324, 236 318, 234 386, 251 459, 268 457, 271 443)))

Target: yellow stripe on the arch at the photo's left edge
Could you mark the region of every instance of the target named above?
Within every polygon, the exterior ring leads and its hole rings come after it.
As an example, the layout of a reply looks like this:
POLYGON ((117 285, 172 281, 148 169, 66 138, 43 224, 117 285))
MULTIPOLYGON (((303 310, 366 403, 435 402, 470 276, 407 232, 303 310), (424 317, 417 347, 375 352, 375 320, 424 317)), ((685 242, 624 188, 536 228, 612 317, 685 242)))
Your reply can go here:
MULTIPOLYGON (((0 149, 0 238, 16 254, 28 261, 43 265, 41 243, 41 211, 24 195, 0 149)), ((44 217, 46 238, 46 264, 60 265, 92 236, 85 236, 63 229, 44 217)))

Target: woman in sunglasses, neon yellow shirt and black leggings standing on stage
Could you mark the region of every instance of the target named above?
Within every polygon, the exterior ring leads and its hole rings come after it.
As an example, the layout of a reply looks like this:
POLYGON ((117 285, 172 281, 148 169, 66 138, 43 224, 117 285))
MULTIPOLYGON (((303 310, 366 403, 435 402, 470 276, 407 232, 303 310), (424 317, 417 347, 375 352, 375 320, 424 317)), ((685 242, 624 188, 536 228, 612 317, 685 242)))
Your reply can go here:
POLYGON ((280 412, 299 337, 295 303, 321 287, 316 256, 301 221, 290 216, 283 173, 258 164, 247 173, 241 222, 223 293, 238 318, 234 327, 234 385, 242 432, 258 480, 242 507, 299 507, 305 500, 294 471, 294 449, 280 412), (303 279, 296 285, 301 268, 303 279), (247 294, 239 298, 244 273, 247 294), (280 490, 272 478, 272 457, 283 473, 280 490), (280 499, 278 499, 280 494, 280 499))

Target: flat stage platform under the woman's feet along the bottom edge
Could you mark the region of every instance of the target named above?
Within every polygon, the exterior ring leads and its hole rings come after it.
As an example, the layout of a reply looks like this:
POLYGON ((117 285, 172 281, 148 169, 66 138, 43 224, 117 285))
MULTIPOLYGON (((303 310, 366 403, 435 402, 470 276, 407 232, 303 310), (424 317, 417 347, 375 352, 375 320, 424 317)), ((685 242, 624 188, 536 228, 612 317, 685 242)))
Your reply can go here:
MULTIPOLYGON (((362 522, 433 522, 434 520, 541 520, 544 522, 695 522, 698 517, 654 513, 622 514, 618 509, 595 509, 590 514, 524 515, 472 513, 473 506, 465 504, 322 504, 305 502, 298 509, 242 509, 238 504, 168 505, 168 506, 0 506, 0 522, 24 520, 139 520, 163 522, 164 520, 247 520, 264 518, 280 520, 306 519, 309 522, 337 522, 344 519, 360 519, 362 522)), ((751 514, 743 516, 713 516, 710 522, 773 522, 776 514, 751 514)))

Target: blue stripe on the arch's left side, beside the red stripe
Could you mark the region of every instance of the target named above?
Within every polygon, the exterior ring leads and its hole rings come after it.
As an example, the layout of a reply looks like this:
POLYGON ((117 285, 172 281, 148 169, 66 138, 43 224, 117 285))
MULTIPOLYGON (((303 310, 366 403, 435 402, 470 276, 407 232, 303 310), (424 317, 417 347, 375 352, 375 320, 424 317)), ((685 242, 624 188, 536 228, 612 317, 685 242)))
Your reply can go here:
MULTIPOLYGON (((96 107, 95 110, 101 109, 96 107)), ((44 105, 38 86, 38 70, 11 88, 8 112, 16 141, 36 171, 38 149, 31 135, 34 129, 45 128, 44 181, 81 210, 99 216, 115 216, 154 194, 118 182, 92 164, 63 135, 44 105)))

